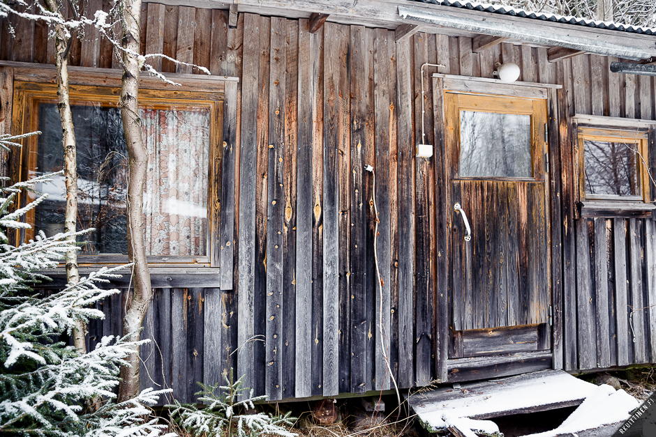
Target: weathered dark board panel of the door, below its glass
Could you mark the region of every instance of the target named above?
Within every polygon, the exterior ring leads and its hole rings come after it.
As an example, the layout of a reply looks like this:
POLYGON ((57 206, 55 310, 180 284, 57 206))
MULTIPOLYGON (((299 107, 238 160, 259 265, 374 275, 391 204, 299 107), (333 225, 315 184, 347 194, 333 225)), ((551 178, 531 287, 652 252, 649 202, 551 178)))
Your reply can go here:
POLYGON ((546 323, 549 253, 545 191, 535 181, 452 184, 472 239, 454 211, 454 330, 546 323))

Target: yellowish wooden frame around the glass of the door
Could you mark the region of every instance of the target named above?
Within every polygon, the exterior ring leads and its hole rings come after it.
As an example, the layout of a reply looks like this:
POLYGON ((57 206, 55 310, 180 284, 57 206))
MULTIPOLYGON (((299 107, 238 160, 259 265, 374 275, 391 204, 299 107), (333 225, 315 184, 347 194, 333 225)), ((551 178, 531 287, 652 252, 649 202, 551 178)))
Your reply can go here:
MULTIPOLYGON (((452 131, 458 144, 452 162, 456 166, 454 178, 462 180, 498 180, 498 181, 544 181, 549 172, 545 157, 549 153, 549 144, 544 140, 546 117, 546 98, 542 95, 527 93, 525 95, 474 94, 459 90, 445 89, 445 123, 446 129, 452 131), (531 120, 531 175, 530 177, 505 176, 461 176, 460 175, 460 112, 489 112, 494 114, 530 115, 531 120), (539 121, 538 121, 539 120, 539 121), (542 150, 540 152, 539 150, 542 150)), ((454 151, 455 152, 455 151, 454 151)))

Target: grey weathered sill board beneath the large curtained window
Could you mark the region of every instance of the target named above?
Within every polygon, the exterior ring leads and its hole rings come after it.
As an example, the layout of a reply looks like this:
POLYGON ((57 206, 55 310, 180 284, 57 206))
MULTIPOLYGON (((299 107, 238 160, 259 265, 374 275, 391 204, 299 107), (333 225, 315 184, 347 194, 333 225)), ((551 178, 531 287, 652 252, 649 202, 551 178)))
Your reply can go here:
MULTIPOLYGON (((80 276, 88 276, 91 272, 100 270, 102 266, 80 266, 80 276)), ((186 289, 192 287, 218 288, 221 283, 217 267, 150 267, 151 286, 154 289, 186 289)), ((36 284, 36 289, 60 289, 66 285, 66 268, 41 270, 38 273, 52 278, 52 281, 36 284)), ((122 277, 110 279, 107 286, 100 288, 127 288, 131 284, 130 269, 124 268, 115 272, 122 277)), ((230 290, 227 290, 230 291, 230 290)))

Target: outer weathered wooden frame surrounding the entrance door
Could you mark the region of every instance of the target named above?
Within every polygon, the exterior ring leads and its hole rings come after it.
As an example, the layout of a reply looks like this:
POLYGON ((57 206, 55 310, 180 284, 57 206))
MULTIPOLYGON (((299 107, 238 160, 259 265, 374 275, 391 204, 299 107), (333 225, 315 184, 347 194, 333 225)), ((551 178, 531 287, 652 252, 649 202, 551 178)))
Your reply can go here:
MULTIPOLYGON (((537 98, 546 100, 546 121, 548 125, 546 147, 549 155, 549 169, 546 172, 546 203, 549 213, 549 256, 551 256, 551 367, 562 368, 562 252, 561 252, 561 218, 560 218, 560 144, 558 118, 558 100, 564 98, 558 89, 562 86, 554 84, 538 84, 533 82, 514 82, 506 84, 498 79, 475 78, 456 75, 433 75, 433 128, 435 130, 435 220, 437 238, 438 281, 435 289, 435 376, 442 381, 449 381, 449 367, 456 365, 457 360, 449 359, 449 342, 451 342, 450 314, 452 308, 452 205, 450 169, 452 157, 447 155, 446 124, 445 124, 445 90, 460 93, 481 95, 502 95, 518 98, 537 98), (493 91, 493 93, 491 93, 493 91), (440 201, 442 200, 442 201, 440 201)), ((561 105, 562 106, 562 105, 561 105)), ((562 115, 564 116, 564 114, 562 115)), ((565 131, 565 135, 567 132, 565 131)), ((526 353, 532 354, 532 353, 526 353)), ((512 357, 516 358, 516 356, 512 357)), ((481 358, 468 358, 479 360, 481 358)), ((453 369, 457 371, 457 369, 453 369)), ((519 371, 521 373, 521 371, 519 371)))

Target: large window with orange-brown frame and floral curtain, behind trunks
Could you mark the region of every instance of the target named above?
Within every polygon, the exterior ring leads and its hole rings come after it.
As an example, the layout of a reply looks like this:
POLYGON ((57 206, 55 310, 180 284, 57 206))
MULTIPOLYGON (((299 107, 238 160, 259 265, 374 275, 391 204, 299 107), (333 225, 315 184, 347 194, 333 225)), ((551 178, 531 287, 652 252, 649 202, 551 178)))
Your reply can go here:
MULTIPOLYGON (((79 238, 80 263, 127 260, 126 187, 128 153, 123 134, 119 89, 70 86, 77 141, 78 229, 94 228, 79 238)), ((218 234, 221 187, 223 93, 141 89, 142 132, 149 164, 144 188, 144 231, 149 263, 209 266, 216 258, 211 239, 218 234)), ((42 133, 24 141, 12 162, 17 180, 63 167, 57 86, 15 82, 15 130, 42 133)), ((36 187, 48 198, 31 210, 35 232, 64 231, 64 176, 36 187)), ((21 199, 26 204, 35 194, 21 199)))

